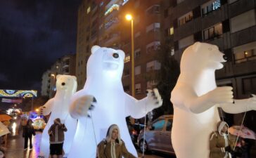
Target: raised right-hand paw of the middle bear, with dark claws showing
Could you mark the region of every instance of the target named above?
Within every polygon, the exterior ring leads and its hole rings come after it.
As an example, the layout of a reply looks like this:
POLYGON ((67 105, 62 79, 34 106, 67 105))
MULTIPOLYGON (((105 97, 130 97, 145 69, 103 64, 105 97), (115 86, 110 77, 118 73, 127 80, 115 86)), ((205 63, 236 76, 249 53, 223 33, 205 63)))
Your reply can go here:
POLYGON ((153 88, 153 90, 147 89, 147 98, 147 112, 151 112, 153 109, 162 106, 162 98, 160 96, 160 93, 158 92, 158 88, 153 88))

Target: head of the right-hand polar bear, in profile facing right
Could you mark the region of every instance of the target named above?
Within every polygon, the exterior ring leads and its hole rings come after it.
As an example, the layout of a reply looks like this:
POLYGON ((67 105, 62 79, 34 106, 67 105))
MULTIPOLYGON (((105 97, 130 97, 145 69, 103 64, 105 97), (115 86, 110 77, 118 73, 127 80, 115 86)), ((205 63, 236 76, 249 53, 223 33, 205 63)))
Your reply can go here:
POLYGON ((212 44, 196 42, 184 51, 181 57, 181 72, 219 70, 226 62, 224 53, 212 44))

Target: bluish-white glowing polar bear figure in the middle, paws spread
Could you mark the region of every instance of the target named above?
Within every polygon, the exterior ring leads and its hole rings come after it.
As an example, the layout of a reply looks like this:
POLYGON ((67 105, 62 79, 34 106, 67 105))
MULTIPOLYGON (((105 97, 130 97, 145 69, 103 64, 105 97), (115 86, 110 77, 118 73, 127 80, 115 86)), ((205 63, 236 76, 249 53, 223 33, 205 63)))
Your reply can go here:
POLYGON ((124 93, 122 71, 124 52, 113 48, 93 46, 87 62, 87 81, 81 91, 72 97, 70 113, 78 118, 77 132, 68 158, 95 158, 96 146, 106 136, 108 127, 117 124, 129 152, 137 155, 129 136, 125 117, 144 117, 162 105, 157 89, 146 98, 136 100, 124 93), (87 110, 93 102, 94 110, 87 110))

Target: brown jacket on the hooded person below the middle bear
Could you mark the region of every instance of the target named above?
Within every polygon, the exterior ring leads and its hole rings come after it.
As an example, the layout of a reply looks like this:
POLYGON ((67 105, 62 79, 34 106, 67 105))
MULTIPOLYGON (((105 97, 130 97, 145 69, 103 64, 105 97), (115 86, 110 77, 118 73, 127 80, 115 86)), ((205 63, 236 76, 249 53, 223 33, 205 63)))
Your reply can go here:
MULTIPOLYGON (((111 158, 111 142, 102 140, 101 143, 98 144, 98 154, 100 158, 111 158)), ((121 145, 119 143, 115 143, 115 155, 116 158, 136 158, 127 151, 124 141, 122 141, 121 145)))

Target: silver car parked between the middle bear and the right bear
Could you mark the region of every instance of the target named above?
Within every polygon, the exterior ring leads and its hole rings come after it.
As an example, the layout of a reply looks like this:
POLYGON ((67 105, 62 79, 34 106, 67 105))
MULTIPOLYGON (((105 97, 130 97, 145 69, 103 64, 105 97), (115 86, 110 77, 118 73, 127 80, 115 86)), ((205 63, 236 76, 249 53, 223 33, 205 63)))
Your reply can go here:
POLYGON ((141 152, 143 150, 145 152, 155 150, 174 154, 171 141, 172 120, 173 115, 162 115, 155 119, 152 124, 148 125, 146 131, 141 130, 138 136, 138 145, 141 152))

